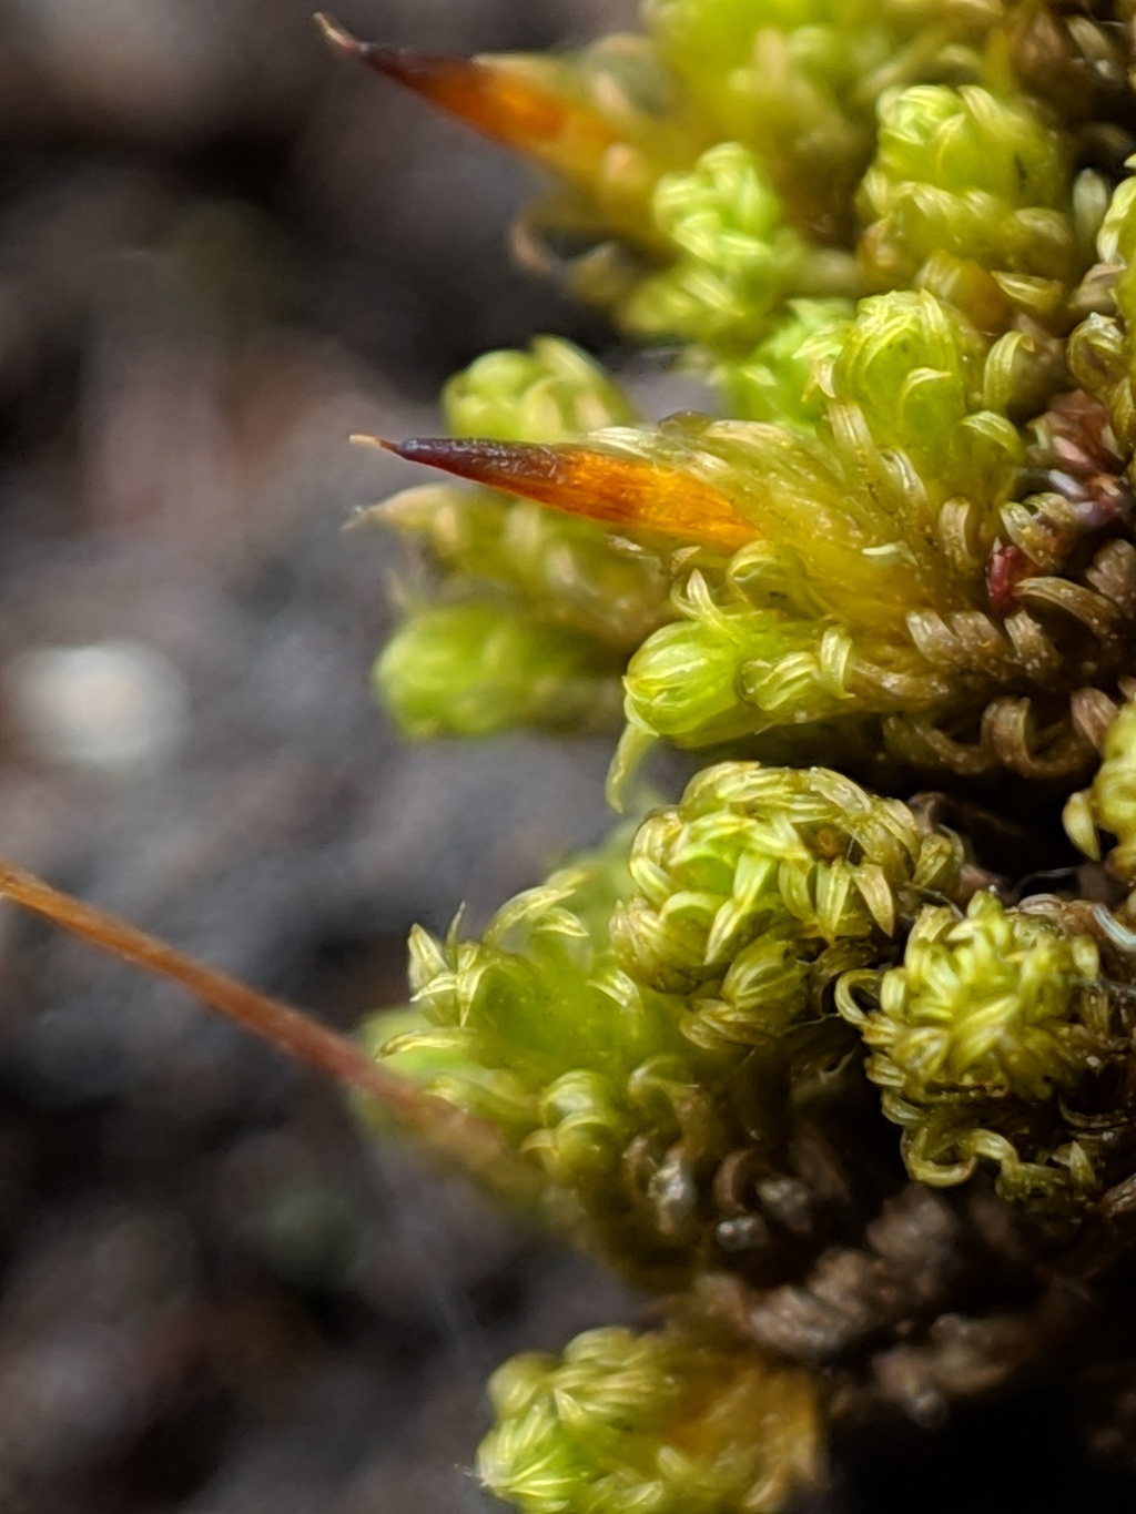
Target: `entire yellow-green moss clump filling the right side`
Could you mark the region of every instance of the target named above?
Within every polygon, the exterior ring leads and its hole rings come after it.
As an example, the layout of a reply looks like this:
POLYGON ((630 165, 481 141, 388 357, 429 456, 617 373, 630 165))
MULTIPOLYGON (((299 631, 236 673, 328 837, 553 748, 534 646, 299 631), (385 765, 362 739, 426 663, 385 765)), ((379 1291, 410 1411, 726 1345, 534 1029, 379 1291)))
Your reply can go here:
POLYGON ((647 419, 562 341, 489 354, 445 392, 473 441, 424 444, 477 486, 386 507, 433 569, 376 672, 410 734, 621 710, 616 798, 654 745, 707 763, 480 940, 417 931, 370 1030, 674 1290, 656 1334, 497 1375, 480 1472, 524 1514, 779 1514, 829 1410, 1030 1360, 951 1291, 995 1234, 1028 1293, 1131 1208, 1130 20, 645 0, 476 76, 476 124, 559 180, 530 257, 706 386, 647 419), (935 1235, 895 1219, 913 1184, 962 1188, 910 1205, 935 1235), (771 1320, 835 1375, 771 1369, 771 1320))

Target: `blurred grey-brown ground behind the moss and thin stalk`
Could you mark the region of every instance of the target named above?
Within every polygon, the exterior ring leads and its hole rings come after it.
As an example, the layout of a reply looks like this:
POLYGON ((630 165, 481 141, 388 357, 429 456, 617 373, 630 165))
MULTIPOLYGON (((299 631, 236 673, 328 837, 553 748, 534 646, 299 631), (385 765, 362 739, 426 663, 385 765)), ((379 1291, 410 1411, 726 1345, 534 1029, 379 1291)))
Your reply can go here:
MULTIPOLYGON (((583 41, 615 0, 350 0, 583 41)), ((351 1026, 414 921, 603 825, 607 751, 407 751, 401 551, 351 510, 477 353, 597 339, 507 263, 526 171, 304 0, 0 0, 0 852, 351 1026)), ((598 333, 603 341, 603 335, 598 333)), ((483 1381, 627 1313, 335 1090, 0 910, 2 1514, 463 1514, 483 1381)))

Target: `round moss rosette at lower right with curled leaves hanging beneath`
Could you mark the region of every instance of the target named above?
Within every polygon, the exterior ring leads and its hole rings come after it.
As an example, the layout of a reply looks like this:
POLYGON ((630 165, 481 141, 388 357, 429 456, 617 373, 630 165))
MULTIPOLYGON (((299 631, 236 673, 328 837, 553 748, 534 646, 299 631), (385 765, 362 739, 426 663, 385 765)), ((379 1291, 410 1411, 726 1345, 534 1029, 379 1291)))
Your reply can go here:
POLYGON ((903 966, 879 981, 851 974, 838 990, 872 1055, 868 1076, 903 1126, 907 1170, 945 1187, 978 1161, 1006 1196, 1083 1196, 1098 1184, 1062 1117, 1109 1057, 1109 995, 1095 942, 977 893, 965 916, 928 907, 903 966), (857 990, 875 1007, 865 1011, 857 990))

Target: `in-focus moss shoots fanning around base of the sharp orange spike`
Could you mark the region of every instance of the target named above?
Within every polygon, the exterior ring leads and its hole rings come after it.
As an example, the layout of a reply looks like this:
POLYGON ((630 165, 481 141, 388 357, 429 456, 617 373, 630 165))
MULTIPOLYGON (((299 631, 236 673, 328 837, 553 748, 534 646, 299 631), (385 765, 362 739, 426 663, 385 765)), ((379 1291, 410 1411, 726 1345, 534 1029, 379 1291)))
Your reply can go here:
POLYGON ((989 554, 1024 459, 1016 427, 988 406, 991 357, 933 295, 882 295, 829 330, 815 428, 673 431, 716 463, 754 544, 676 589, 680 619, 629 666, 635 727, 701 746, 891 712, 965 716, 1000 678, 1041 671, 1033 643, 988 610, 989 554))

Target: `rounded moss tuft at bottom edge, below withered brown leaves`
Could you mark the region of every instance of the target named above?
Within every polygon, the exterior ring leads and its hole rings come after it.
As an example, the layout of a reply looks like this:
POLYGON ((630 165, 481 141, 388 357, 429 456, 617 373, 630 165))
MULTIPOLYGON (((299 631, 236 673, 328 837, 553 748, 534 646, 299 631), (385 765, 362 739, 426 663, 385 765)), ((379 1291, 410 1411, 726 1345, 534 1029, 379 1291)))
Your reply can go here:
POLYGON ((486 1487, 524 1514, 777 1514, 821 1476, 816 1390, 680 1329, 595 1329, 489 1384, 486 1487))

